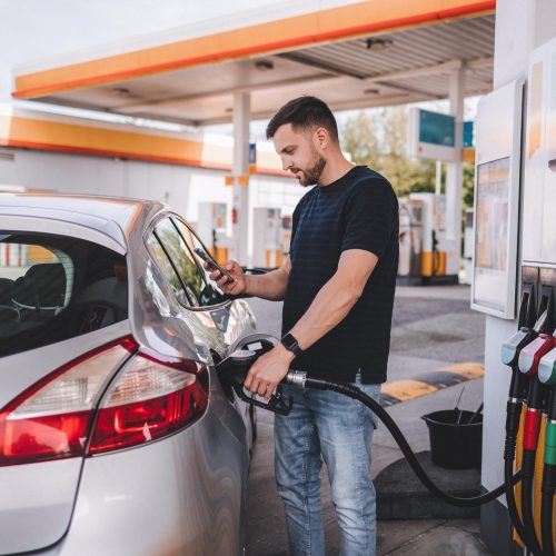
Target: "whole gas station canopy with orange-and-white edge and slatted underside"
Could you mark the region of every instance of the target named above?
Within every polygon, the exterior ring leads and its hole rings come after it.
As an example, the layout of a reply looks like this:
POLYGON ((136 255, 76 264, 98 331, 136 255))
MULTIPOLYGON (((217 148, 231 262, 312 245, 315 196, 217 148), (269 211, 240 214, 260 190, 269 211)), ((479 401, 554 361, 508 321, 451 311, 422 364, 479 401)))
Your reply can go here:
POLYGON ((459 69, 464 95, 481 95, 493 83, 495 6, 367 0, 206 34, 189 28, 19 67, 13 97, 207 126, 231 121, 237 93, 250 93, 251 119, 299 95, 334 110, 445 99, 459 69))

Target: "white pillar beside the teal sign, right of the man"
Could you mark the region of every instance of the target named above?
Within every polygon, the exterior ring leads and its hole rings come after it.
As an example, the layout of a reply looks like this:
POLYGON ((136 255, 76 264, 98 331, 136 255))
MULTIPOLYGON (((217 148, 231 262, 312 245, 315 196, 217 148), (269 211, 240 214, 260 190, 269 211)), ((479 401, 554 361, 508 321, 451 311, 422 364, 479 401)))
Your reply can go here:
POLYGON ((464 68, 455 69, 449 77, 450 113, 456 117, 456 161, 446 167, 446 274, 457 275, 461 252, 461 201, 464 185, 463 128, 464 128, 464 68))

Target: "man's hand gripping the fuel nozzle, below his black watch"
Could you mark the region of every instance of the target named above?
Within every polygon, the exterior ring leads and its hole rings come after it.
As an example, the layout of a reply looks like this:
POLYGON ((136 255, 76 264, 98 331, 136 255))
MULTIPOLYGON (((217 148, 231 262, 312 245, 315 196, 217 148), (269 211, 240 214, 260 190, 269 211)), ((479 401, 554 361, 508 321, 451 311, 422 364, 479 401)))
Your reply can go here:
POLYGON ((281 344, 261 355, 249 369, 245 387, 265 398, 270 398, 278 383, 288 374, 295 356, 281 344))

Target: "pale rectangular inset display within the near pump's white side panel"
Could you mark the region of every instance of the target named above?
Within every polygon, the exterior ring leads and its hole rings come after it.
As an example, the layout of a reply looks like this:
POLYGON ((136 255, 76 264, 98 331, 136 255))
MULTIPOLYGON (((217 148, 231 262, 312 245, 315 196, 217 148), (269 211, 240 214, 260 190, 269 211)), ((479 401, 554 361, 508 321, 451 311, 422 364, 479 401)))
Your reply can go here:
POLYGON ((506 309, 509 157, 477 167, 474 302, 506 309))

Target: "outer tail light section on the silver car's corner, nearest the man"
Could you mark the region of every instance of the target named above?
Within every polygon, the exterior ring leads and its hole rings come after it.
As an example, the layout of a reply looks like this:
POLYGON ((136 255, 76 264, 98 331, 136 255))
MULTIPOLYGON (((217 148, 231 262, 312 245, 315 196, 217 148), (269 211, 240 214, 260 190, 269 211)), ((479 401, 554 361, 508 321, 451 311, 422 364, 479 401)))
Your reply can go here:
POLYGON ((137 354, 102 399, 89 454, 137 446, 170 435, 203 415, 207 368, 137 354))

